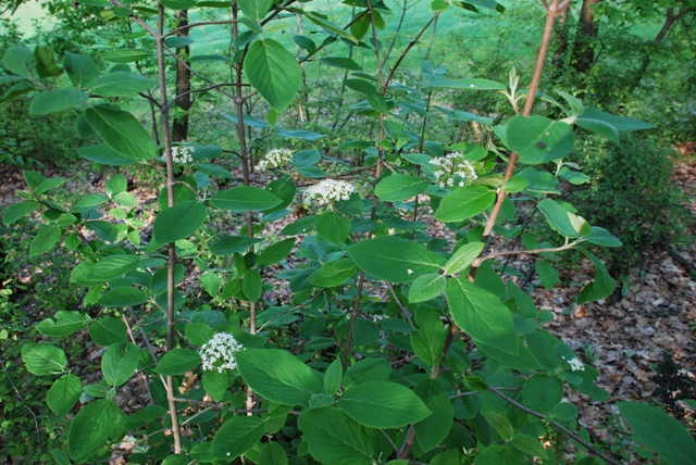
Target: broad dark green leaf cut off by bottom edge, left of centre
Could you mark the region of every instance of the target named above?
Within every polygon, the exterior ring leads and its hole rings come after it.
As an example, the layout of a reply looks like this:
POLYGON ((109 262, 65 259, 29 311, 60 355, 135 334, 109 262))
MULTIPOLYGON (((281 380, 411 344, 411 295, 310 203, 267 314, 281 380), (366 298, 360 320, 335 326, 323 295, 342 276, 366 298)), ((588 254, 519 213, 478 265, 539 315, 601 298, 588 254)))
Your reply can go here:
POLYGON ((364 428, 335 407, 303 412, 298 425, 309 453, 324 465, 372 465, 375 463, 374 429, 364 428))

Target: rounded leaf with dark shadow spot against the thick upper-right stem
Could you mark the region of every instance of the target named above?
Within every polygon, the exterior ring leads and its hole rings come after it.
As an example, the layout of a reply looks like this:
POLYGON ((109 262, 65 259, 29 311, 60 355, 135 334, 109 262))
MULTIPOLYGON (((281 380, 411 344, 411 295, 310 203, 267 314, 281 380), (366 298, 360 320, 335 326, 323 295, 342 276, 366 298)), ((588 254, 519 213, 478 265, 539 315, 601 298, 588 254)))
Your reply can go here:
POLYGON ((505 144, 518 152, 522 163, 558 160, 573 149, 575 134, 570 125, 544 116, 514 116, 508 123, 505 144))

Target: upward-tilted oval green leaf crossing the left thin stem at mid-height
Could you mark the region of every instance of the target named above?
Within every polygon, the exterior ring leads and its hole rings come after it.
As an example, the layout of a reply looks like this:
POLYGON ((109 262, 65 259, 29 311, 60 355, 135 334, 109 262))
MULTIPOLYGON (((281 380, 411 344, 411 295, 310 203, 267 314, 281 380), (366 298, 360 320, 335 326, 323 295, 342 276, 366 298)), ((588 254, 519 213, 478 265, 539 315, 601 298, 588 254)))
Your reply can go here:
POLYGON ((203 202, 188 200, 162 210, 154 218, 152 234, 158 243, 176 242, 196 232, 206 223, 208 209, 203 202))

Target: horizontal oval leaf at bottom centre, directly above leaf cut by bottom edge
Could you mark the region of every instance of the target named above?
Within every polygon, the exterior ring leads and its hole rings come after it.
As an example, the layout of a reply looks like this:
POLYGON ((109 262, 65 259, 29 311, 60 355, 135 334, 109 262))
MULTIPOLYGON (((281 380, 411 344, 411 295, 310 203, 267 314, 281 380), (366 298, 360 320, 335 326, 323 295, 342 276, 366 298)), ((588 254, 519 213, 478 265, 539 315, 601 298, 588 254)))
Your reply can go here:
POLYGON ((371 428, 400 428, 431 414, 413 391, 388 381, 352 385, 336 405, 359 424, 371 428))

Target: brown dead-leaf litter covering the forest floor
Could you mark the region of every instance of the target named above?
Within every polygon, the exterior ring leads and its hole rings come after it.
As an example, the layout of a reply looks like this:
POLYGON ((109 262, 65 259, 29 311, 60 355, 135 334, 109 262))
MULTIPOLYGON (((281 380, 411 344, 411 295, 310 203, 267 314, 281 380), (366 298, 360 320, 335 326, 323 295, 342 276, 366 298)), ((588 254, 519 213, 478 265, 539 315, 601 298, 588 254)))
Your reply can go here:
MULTIPOLYGON (((101 190, 105 180, 103 176, 84 169, 75 169, 72 174, 61 173, 58 168, 44 172, 46 176, 66 176, 64 187, 82 193, 101 190)), ((16 192, 26 187, 21 169, 16 167, 0 165, 0 210, 4 210, 18 200, 16 192)), ((693 156, 675 162, 673 179, 686 192, 687 206, 696 217, 696 162, 693 156)), ((156 199, 156 192, 151 190, 130 191, 139 197, 141 203, 152 203, 156 199)), ((692 226, 687 235, 696 238, 696 226, 692 226)), ((523 267, 521 263, 513 265, 523 267)), ((657 367, 664 366, 666 353, 681 365, 682 370, 676 376, 685 382, 684 386, 691 386, 692 392, 696 391, 694 266, 696 240, 679 248, 672 246, 671 250, 649 248, 643 252, 639 266, 625 273, 629 279, 623 284, 622 292, 584 305, 576 305, 575 297, 580 287, 593 279, 588 263, 562 271, 563 285, 551 290, 532 280, 532 297, 537 307, 556 315, 547 324, 547 329, 568 343, 581 360, 593 364, 599 370, 598 385, 610 392, 606 403, 595 402, 576 392, 570 399, 580 410, 579 422, 596 439, 616 440, 611 437, 613 429, 605 428, 618 414, 614 401, 651 402, 659 398, 661 387, 675 389, 673 386, 660 386, 656 380, 657 367)), ((25 284, 51 278, 30 272, 22 275, 25 284)), ((36 309, 27 311, 32 315, 36 309)), ((40 313, 33 315, 36 323, 50 316, 40 313)), ((674 395, 680 393, 674 392, 674 395)), ((127 402, 134 411, 140 407, 138 403, 134 399, 127 402)), ((686 407, 682 419, 691 420, 693 426, 694 412, 686 407)))

